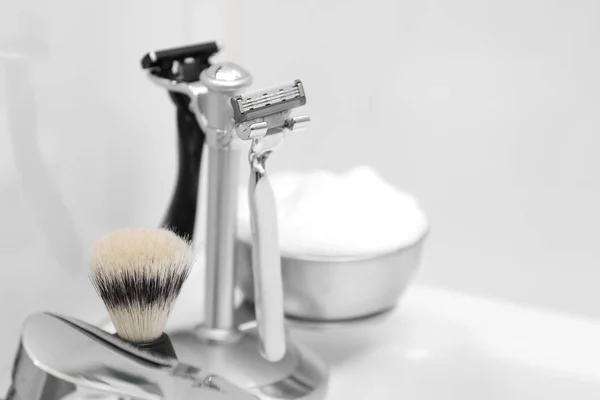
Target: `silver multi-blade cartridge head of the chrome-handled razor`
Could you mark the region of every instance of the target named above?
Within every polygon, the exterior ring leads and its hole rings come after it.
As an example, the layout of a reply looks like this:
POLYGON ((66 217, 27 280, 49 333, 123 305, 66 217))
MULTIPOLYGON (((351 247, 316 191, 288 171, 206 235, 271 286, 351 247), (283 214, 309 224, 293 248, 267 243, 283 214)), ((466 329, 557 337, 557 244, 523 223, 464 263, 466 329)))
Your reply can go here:
POLYGON ((231 98, 233 118, 238 124, 283 113, 304 104, 306 104, 306 95, 299 79, 291 84, 231 98))

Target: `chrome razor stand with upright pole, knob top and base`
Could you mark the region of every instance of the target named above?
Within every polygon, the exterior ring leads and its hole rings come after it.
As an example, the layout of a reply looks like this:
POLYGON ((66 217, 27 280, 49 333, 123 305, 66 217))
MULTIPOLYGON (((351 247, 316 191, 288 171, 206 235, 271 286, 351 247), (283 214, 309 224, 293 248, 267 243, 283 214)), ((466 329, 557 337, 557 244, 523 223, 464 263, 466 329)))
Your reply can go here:
POLYGON ((170 333, 179 358, 221 374, 261 399, 323 398, 326 366, 289 340, 283 358, 268 361, 259 351, 255 316, 236 310, 234 303, 243 141, 233 124, 230 99, 251 84, 250 74, 235 64, 220 63, 204 70, 198 82, 178 83, 152 74, 150 78, 191 98, 190 109, 206 133, 208 147, 205 319, 195 329, 170 333))

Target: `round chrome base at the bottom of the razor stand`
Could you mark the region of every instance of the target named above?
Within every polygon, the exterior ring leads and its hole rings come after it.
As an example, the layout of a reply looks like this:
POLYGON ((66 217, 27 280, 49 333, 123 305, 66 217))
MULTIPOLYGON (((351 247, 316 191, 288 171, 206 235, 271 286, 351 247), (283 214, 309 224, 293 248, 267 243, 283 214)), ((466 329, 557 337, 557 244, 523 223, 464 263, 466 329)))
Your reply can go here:
POLYGON ((318 400, 327 392, 328 372, 322 361, 288 343, 285 357, 269 362, 259 354, 254 327, 228 340, 207 338, 201 329, 169 336, 181 361, 221 375, 260 399, 318 400))

